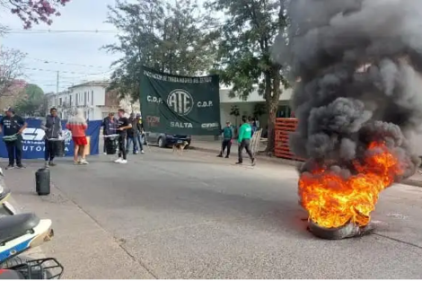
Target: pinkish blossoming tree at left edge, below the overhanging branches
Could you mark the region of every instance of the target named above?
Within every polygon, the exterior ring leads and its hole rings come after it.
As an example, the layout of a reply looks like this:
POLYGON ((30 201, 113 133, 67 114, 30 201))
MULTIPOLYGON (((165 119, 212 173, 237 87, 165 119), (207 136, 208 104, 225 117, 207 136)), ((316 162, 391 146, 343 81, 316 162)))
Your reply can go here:
POLYGON ((23 75, 24 58, 20 50, 0 47, 0 97, 23 75))

